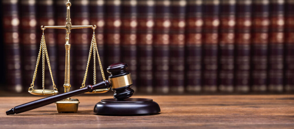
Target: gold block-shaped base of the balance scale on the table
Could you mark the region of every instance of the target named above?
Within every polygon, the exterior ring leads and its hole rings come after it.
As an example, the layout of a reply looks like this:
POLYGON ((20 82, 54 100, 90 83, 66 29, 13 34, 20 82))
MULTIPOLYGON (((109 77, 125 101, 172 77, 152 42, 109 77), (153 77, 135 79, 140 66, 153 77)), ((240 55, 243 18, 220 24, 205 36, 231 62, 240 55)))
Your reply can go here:
POLYGON ((76 113, 78 111, 78 99, 67 98, 56 103, 58 113, 76 113))

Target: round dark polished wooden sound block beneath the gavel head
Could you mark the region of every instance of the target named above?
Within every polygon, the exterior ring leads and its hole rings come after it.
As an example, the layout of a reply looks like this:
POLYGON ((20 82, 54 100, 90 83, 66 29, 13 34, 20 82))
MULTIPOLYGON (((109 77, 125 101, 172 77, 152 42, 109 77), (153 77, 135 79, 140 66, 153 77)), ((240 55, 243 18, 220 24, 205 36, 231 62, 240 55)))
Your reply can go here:
POLYGON ((98 115, 137 115, 158 112, 160 112, 160 107, 156 102, 142 98, 102 99, 94 107, 94 113, 98 115))

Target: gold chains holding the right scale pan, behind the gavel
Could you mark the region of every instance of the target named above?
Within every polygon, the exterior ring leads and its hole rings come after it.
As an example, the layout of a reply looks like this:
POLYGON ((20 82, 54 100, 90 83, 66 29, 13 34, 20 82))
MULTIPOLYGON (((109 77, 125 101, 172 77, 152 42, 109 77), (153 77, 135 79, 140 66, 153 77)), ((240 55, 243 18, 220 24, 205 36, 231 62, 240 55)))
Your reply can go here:
POLYGON ((103 72, 103 68, 102 68, 100 56, 99 56, 99 53, 98 53, 98 48, 97 48, 97 43, 96 43, 96 37, 95 37, 95 34, 93 34, 92 41, 91 41, 91 46, 90 46, 90 51, 89 51, 89 56, 88 56, 88 62, 87 62, 86 72, 85 72, 85 75, 84 75, 84 79, 83 79, 83 83, 82 83, 82 87, 81 88, 85 87, 87 73, 88 73, 88 67, 89 67, 89 63, 90 63, 90 60, 91 60, 92 50, 93 50, 93 58, 94 58, 94 66, 93 66, 94 67, 94 84, 96 84, 96 54, 97 54, 97 57, 98 57, 99 66, 100 66, 101 74, 102 74, 102 77, 103 77, 103 81, 106 80, 105 79, 105 76, 104 76, 104 72, 103 72))

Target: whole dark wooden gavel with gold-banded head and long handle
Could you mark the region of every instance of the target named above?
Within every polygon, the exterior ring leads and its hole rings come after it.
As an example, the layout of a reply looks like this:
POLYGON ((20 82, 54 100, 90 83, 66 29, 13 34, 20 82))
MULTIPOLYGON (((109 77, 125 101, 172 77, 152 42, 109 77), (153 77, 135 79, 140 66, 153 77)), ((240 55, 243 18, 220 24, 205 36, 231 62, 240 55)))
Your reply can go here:
POLYGON ((131 89, 131 86, 133 85, 131 74, 130 72, 126 71, 127 68, 128 68, 128 65, 126 63, 112 64, 107 68, 107 72, 110 73, 111 75, 108 77, 108 80, 106 81, 99 82, 98 84, 95 84, 93 86, 88 85, 85 88, 69 91, 64 94, 49 96, 43 99, 38 99, 35 101, 21 104, 19 106, 16 106, 6 111, 6 115, 22 113, 22 112, 33 110, 42 106, 46 106, 48 104, 51 104, 51 103, 54 103, 72 96, 76 96, 86 92, 92 92, 93 90, 96 90, 96 89, 106 89, 110 87, 111 87, 111 90, 114 91, 113 97, 117 101, 127 99, 133 96, 134 94, 134 90, 131 89))

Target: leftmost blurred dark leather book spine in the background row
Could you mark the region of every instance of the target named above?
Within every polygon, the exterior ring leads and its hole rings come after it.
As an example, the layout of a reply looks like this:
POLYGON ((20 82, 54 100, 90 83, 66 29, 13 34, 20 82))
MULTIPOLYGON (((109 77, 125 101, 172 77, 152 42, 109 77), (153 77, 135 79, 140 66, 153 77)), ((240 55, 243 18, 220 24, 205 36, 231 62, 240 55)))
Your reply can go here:
MULTIPOLYGON (((5 48, 6 90, 23 91, 21 80, 21 53, 19 37, 19 1, 2 0, 3 38, 5 48)), ((29 86, 28 86, 29 87, 29 86)))

